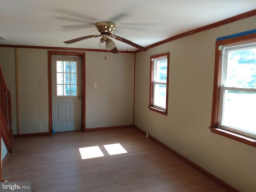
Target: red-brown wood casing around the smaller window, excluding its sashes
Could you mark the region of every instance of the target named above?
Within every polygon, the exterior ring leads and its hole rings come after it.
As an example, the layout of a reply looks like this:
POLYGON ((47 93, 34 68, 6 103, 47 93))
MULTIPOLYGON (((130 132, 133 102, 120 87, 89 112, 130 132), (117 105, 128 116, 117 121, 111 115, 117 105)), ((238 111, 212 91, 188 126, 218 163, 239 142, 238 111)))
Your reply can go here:
POLYGON ((150 87, 149 87, 149 107, 148 109, 155 111, 157 113, 160 113, 162 115, 167 115, 167 109, 168 109, 168 85, 169 85, 169 55, 170 53, 161 53, 158 55, 152 55, 150 56, 150 87), (167 77, 166 77, 166 109, 165 111, 158 109, 157 107, 154 107, 153 105, 153 84, 154 84, 154 61, 152 59, 158 59, 161 57, 167 57, 167 77))

